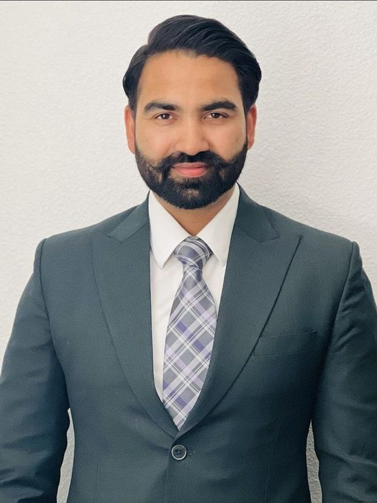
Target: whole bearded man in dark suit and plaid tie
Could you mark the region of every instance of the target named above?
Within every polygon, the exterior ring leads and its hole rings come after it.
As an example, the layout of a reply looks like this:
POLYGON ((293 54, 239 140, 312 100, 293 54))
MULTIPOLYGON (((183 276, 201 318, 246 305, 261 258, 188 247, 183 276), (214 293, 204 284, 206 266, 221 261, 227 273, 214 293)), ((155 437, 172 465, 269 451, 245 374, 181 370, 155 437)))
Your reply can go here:
POLYGON ((43 239, 0 381, 0 501, 377 501, 376 305, 358 244, 252 201, 261 71, 213 19, 123 79, 145 201, 43 239))

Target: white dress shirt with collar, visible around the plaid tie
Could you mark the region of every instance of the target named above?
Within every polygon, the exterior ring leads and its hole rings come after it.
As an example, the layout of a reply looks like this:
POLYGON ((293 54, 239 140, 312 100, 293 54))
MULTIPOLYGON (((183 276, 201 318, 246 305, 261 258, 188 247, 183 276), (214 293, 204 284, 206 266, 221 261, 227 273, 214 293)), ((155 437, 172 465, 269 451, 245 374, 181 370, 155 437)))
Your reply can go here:
MULTIPOLYGON (((218 312, 220 305, 239 194, 238 184, 235 183, 230 200, 201 232, 196 234, 213 251, 203 267, 203 278, 214 298, 216 312, 218 312)), ((150 293, 154 386, 162 402, 163 358, 167 323, 174 296, 183 278, 182 264, 172 252, 190 234, 157 201, 152 191, 150 191, 148 198, 148 212, 150 218, 150 293)))

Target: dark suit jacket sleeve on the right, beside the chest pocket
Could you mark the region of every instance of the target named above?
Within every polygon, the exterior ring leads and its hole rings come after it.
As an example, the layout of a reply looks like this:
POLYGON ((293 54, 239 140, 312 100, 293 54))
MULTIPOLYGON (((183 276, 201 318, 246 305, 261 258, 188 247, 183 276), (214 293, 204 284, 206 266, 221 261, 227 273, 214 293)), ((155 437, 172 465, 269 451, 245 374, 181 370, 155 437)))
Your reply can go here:
POLYGON ((323 503, 377 502, 377 314, 353 242, 312 420, 323 503))

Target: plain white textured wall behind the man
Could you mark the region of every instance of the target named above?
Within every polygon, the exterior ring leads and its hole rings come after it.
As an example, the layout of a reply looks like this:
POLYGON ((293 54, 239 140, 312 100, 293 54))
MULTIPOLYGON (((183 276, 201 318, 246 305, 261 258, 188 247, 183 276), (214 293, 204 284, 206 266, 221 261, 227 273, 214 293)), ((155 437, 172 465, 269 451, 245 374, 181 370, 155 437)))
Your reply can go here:
MULTIPOLYGON (((261 65, 241 185, 258 203, 356 240, 376 292, 376 2, 3 1, 0 359, 39 241, 145 198, 121 83, 150 30, 176 14, 218 19, 261 65)), ((60 503, 73 449, 71 427, 60 503)), ((312 438, 308 460, 318 503, 312 438)))

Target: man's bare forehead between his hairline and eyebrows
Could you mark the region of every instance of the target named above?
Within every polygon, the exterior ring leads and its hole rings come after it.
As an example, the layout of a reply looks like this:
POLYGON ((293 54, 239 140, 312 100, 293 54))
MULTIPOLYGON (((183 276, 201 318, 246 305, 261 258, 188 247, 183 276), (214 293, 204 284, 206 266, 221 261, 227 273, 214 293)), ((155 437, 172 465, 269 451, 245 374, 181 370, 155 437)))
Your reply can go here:
POLYGON ((138 108, 151 99, 190 103, 222 96, 242 102, 236 70, 230 63, 181 51, 150 57, 144 65, 138 89, 138 108))

